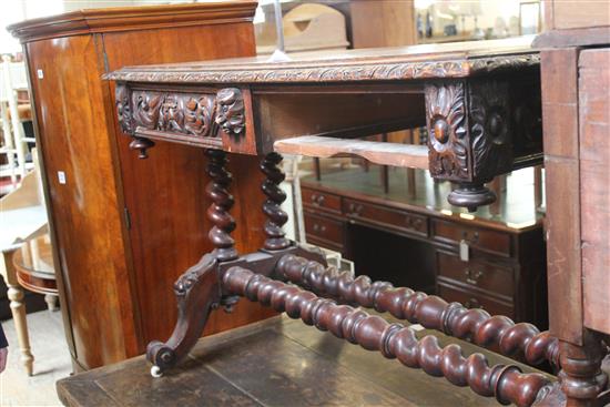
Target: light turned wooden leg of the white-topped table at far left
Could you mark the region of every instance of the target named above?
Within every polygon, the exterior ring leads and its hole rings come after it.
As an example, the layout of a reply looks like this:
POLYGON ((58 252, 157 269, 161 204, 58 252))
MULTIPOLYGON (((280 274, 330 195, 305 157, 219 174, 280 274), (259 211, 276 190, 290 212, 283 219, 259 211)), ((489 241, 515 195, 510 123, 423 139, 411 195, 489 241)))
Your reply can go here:
POLYGON ((26 304, 23 303, 23 289, 17 281, 17 272, 12 265, 14 251, 2 252, 2 265, 4 282, 7 283, 8 297, 14 327, 17 329, 17 342, 21 352, 21 362, 26 366, 28 376, 32 376, 34 357, 30 350, 30 338, 28 336, 28 320, 26 319, 26 304))

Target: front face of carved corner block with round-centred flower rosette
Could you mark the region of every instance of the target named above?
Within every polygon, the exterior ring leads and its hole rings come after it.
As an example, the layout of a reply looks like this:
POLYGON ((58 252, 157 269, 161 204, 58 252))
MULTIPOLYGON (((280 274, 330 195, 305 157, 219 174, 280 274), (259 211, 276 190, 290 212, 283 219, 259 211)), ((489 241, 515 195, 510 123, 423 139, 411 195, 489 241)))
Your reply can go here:
POLYGON ((426 87, 429 169, 435 177, 469 180, 465 85, 448 82, 426 87))

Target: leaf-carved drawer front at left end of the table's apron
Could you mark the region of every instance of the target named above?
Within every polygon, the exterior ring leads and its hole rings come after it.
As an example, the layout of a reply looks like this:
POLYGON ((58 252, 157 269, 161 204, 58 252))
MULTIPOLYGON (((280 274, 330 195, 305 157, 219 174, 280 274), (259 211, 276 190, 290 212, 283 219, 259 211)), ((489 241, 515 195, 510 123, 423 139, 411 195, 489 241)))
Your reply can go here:
POLYGON ((236 88, 195 93, 133 90, 119 82, 115 104, 121 130, 132 136, 130 147, 141 159, 154 146, 150 139, 217 149, 221 131, 234 138, 245 134, 244 99, 236 88))

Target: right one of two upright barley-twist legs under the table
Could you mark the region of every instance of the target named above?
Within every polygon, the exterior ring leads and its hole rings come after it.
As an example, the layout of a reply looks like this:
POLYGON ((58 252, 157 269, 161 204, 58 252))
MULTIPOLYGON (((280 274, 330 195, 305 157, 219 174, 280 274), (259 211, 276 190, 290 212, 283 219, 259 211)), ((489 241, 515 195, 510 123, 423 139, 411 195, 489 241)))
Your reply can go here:
POLYGON ((279 251, 291 246, 291 241, 285 237, 282 226, 288 221, 288 215, 282 210, 282 203, 286 201, 286 193, 279 184, 286 177, 278 164, 282 155, 268 153, 261 162, 261 170, 266 175, 261 189, 267 196, 263 203, 263 212, 267 215, 265 222, 265 248, 267 251, 279 251))

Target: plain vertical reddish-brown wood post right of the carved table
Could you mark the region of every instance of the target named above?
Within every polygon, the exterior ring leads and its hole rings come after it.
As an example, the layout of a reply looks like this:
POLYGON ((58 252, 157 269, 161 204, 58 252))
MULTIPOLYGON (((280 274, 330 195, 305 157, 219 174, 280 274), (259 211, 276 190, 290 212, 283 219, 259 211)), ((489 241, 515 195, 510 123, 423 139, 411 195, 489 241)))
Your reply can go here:
POLYGON ((541 53, 549 327, 559 338, 581 344, 577 58, 576 49, 541 53))

